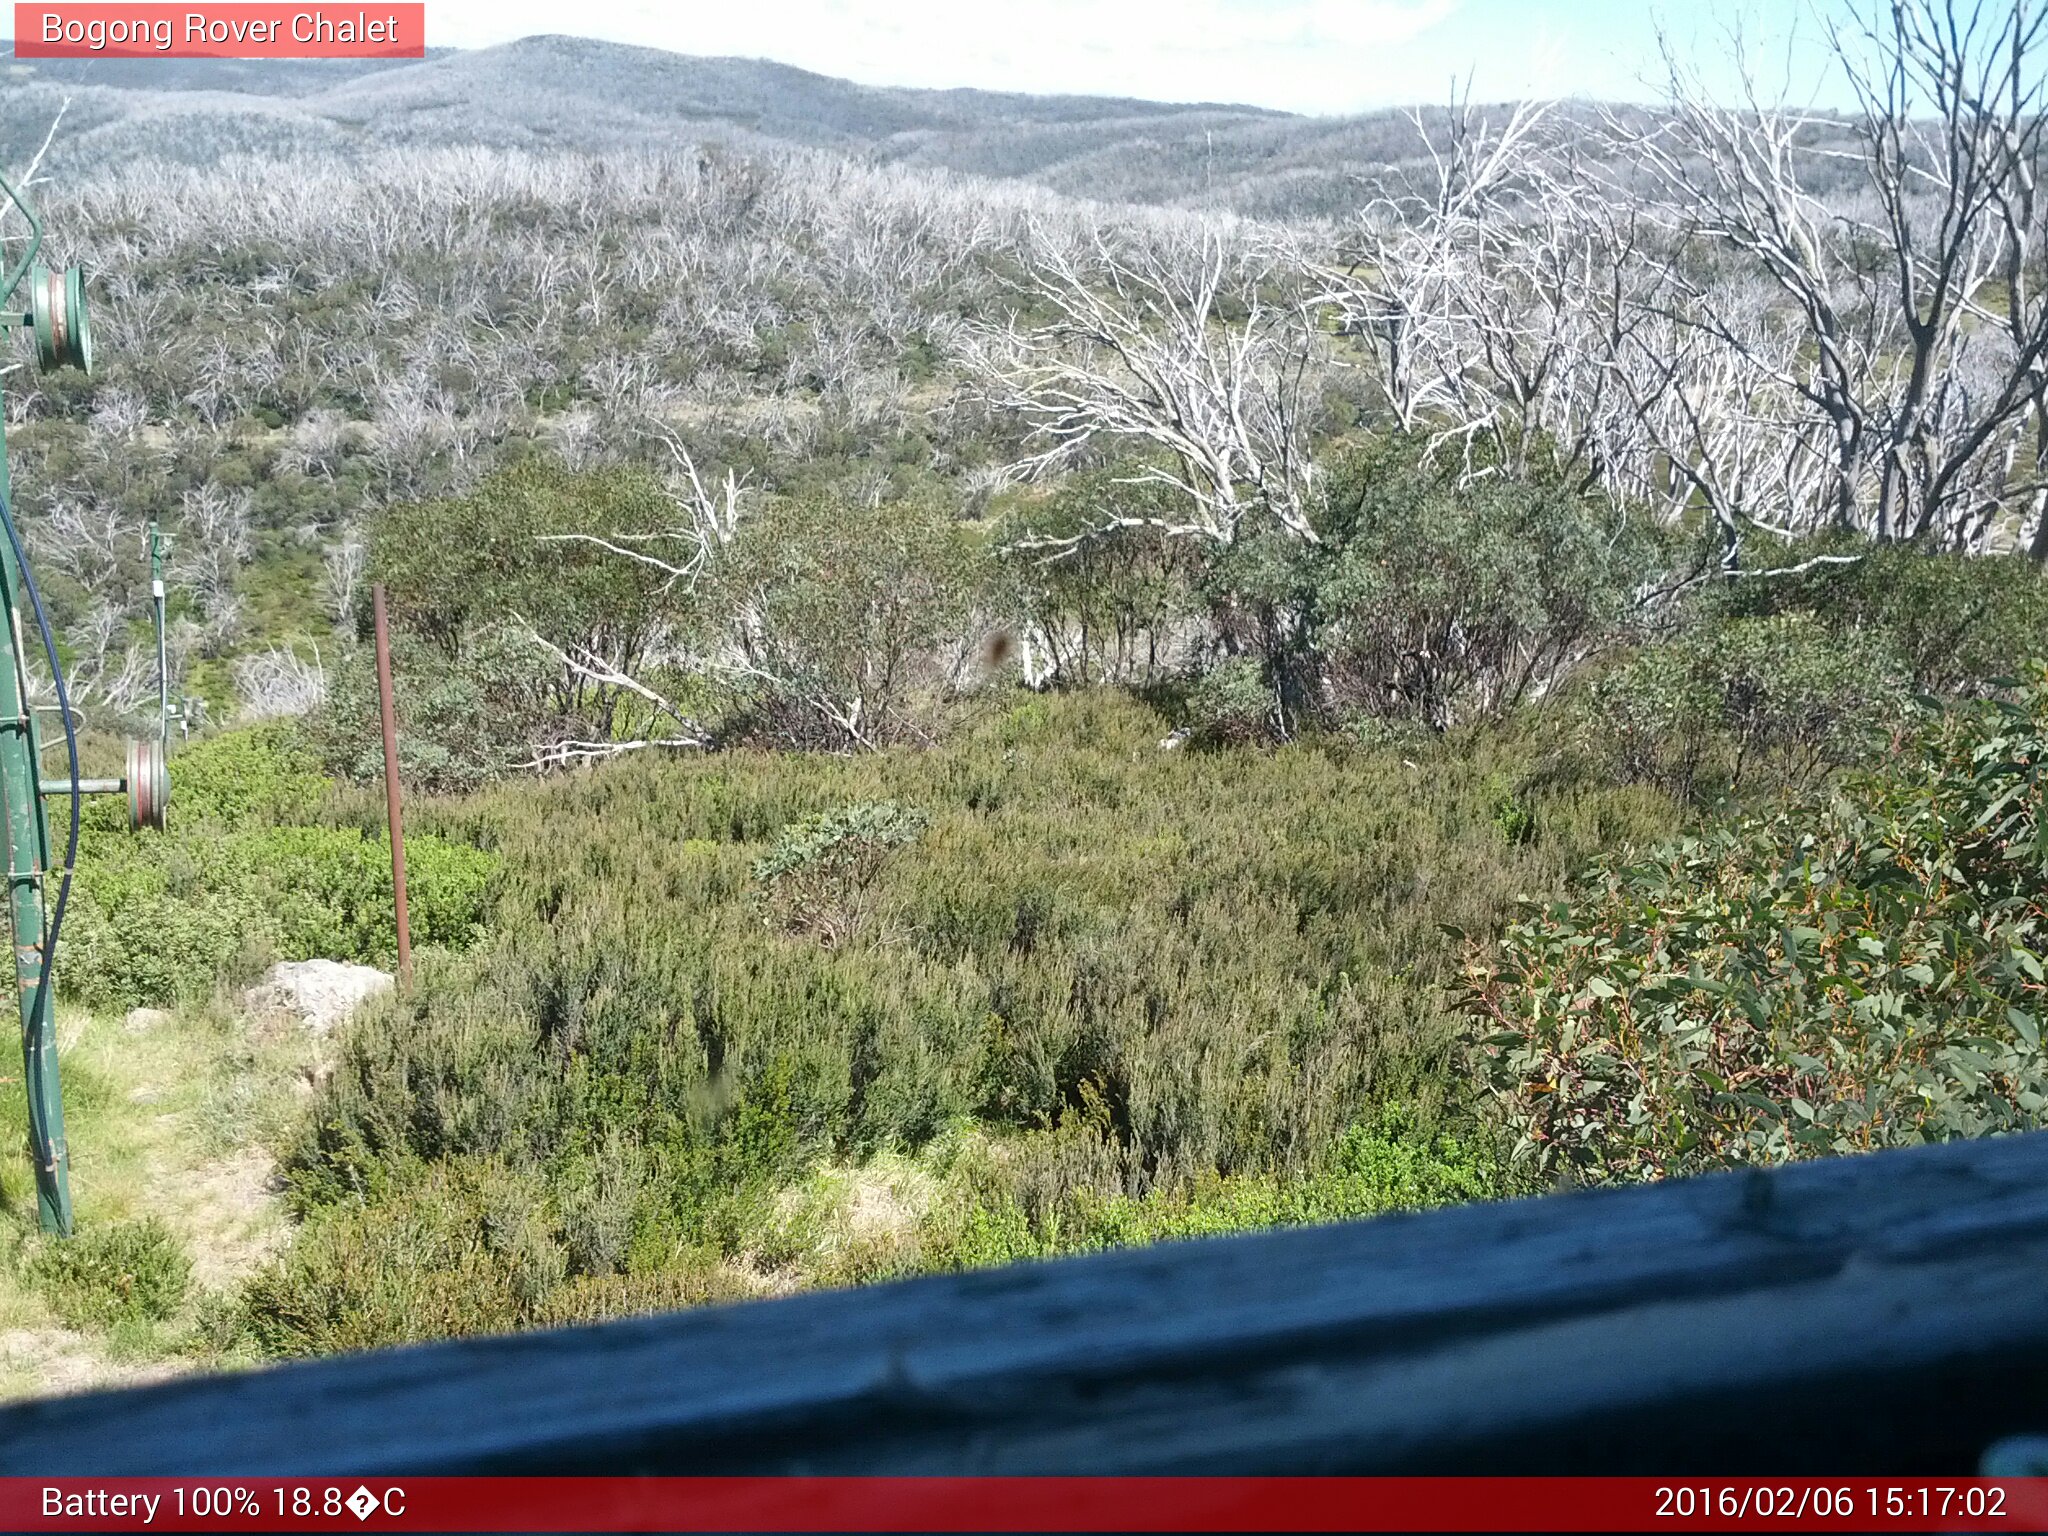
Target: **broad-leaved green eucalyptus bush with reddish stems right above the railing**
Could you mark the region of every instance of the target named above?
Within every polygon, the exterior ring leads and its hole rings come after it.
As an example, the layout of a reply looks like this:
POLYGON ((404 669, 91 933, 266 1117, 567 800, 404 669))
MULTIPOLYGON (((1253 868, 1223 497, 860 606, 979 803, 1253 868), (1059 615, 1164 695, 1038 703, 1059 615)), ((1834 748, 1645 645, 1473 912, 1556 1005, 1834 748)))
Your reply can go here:
POLYGON ((1470 981, 1518 1155, 1688 1174, 2048 1120, 2048 674, 1530 911, 1470 981))

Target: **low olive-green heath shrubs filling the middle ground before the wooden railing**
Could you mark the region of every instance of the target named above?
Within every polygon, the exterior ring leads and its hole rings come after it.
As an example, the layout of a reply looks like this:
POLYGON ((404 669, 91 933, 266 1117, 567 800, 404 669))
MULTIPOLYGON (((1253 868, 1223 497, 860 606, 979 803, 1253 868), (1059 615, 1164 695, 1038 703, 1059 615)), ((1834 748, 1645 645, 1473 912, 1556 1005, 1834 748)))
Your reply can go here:
POLYGON ((1489 741, 1161 735, 1026 696, 926 752, 422 807, 504 860, 494 938, 346 1034, 250 1327, 326 1350, 1497 1192, 1442 926, 1669 805, 1520 803, 1489 741))

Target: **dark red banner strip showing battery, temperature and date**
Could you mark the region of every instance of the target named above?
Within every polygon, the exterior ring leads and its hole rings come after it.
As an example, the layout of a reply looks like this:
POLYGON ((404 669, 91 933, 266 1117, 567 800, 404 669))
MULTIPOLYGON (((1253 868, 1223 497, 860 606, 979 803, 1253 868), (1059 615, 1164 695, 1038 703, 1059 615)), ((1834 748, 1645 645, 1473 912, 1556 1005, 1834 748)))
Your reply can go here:
POLYGON ((2048 1532, 2048 1479, 0 1479, 0 1528, 418 1532, 2048 1532))

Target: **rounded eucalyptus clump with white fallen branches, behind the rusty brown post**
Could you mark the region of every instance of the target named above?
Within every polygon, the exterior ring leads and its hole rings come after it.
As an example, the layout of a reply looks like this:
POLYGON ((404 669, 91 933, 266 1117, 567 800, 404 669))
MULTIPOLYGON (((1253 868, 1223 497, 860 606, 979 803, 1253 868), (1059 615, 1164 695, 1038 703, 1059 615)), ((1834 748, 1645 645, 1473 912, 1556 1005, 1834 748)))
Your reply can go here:
MULTIPOLYGON (((705 545, 680 520, 641 471, 543 461, 379 518, 408 780, 465 791, 549 743, 678 731, 868 750, 930 737, 948 690, 975 680, 999 604, 981 537, 944 498, 766 498, 705 545)), ((381 770, 367 647, 311 739, 336 774, 381 770)))

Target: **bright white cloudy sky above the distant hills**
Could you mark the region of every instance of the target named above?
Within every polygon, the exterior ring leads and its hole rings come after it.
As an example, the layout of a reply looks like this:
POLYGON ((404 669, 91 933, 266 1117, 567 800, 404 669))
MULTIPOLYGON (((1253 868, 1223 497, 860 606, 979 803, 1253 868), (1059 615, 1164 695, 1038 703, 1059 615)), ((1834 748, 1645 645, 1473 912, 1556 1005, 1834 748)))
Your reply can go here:
MULTIPOLYGON (((1726 94, 1729 20, 1784 76, 1788 31, 1804 14, 1800 0, 428 0, 426 33, 432 47, 578 33, 776 59, 872 86, 1339 115, 1438 102, 1464 78, 1491 100, 1649 100, 1659 20, 1708 88, 1726 94)), ((1815 98, 1810 84, 1792 94, 1815 98)))

